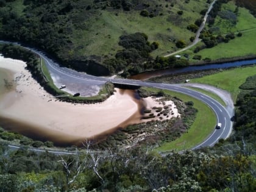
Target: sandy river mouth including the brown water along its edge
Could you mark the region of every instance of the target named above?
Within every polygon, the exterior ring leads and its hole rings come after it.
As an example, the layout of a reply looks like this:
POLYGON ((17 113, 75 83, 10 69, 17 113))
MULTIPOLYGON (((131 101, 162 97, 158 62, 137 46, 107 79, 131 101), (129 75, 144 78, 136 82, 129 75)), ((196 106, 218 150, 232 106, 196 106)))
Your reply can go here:
POLYGON ((0 74, 0 126, 34 140, 53 141, 55 146, 80 146, 85 140, 97 140, 140 123, 143 101, 135 90, 119 89, 102 104, 71 104, 49 99, 46 93, 38 94, 43 90, 37 82, 31 83, 34 79, 28 71, 16 75, 0 68, 0 74), (7 88, 6 82, 13 82, 13 86, 7 88))

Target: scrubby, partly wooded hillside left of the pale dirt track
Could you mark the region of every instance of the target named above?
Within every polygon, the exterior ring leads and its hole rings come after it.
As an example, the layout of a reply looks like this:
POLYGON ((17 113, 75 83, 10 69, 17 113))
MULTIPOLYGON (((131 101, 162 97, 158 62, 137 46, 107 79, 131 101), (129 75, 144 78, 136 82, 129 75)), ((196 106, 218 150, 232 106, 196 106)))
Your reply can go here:
MULTIPOLYGON (((136 60, 132 63, 152 60, 175 51, 179 40, 189 44, 195 34, 187 26, 199 20, 208 5, 204 0, 3 1, 0 38, 36 46, 71 67, 84 65, 77 61, 94 60, 116 73, 117 67, 104 61, 116 59, 115 55, 124 49, 119 37, 136 32, 146 34, 148 44, 155 42, 150 51, 152 57, 149 52, 146 56, 136 55, 133 49, 132 57, 136 60)), ((130 56, 127 52, 124 55, 130 56)), ((110 62, 122 66, 123 57, 110 62)), ((130 63, 124 61, 123 65, 130 63)), ((144 68, 135 71, 141 70, 144 68)))

